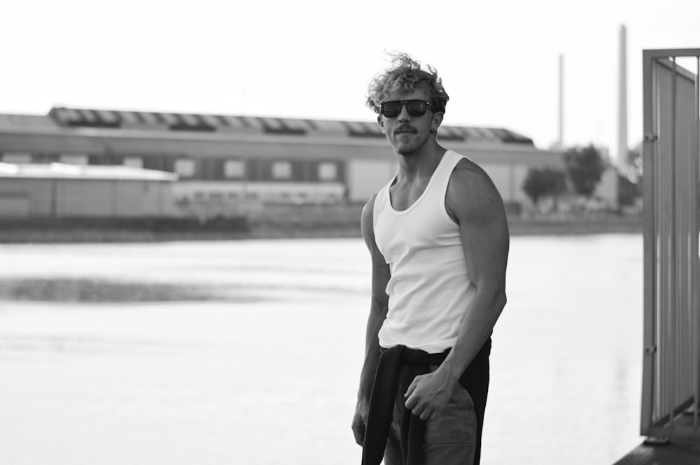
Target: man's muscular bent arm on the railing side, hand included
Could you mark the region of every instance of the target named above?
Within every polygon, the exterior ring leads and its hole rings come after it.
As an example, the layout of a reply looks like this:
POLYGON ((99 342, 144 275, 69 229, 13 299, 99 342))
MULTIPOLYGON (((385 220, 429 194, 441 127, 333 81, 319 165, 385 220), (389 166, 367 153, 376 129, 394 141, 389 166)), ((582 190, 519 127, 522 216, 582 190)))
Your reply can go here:
POLYGON ((447 405, 460 376, 491 336, 506 301, 510 238, 496 186, 479 166, 463 160, 451 175, 445 203, 459 224, 467 271, 476 292, 447 358, 433 373, 416 376, 405 394, 406 407, 423 420, 447 405))

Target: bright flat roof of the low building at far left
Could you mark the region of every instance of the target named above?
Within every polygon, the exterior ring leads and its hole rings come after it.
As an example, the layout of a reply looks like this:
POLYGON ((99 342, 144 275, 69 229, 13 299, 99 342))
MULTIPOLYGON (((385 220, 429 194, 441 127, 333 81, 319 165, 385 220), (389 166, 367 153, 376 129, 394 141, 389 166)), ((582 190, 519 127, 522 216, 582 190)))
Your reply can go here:
POLYGON ((175 173, 134 166, 0 163, 0 178, 176 181, 178 176, 175 173))

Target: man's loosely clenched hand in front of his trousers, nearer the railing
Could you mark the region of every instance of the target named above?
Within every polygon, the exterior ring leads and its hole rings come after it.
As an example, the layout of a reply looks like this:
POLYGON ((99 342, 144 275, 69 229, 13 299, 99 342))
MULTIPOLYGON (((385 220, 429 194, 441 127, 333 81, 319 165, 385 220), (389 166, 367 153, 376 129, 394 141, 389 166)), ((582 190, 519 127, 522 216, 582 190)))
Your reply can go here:
POLYGON ((406 408, 421 420, 434 418, 447 406, 457 382, 440 369, 416 376, 404 394, 406 408))

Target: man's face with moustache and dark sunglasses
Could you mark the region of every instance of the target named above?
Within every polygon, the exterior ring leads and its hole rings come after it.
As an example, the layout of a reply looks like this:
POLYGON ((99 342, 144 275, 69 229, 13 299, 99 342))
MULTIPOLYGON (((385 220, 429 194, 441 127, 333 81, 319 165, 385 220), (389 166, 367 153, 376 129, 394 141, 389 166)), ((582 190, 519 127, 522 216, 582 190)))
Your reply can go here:
MULTIPOLYGON (((386 99, 386 101, 395 100, 430 101, 424 90, 414 90, 409 94, 393 95, 386 99)), ((398 116, 390 118, 379 115, 377 121, 396 153, 404 156, 413 155, 420 150, 431 136, 430 129, 434 127, 437 130, 437 126, 440 125, 439 116, 435 116, 433 108, 426 108, 426 113, 422 116, 412 116, 406 105, 401 107, 398 116)))

